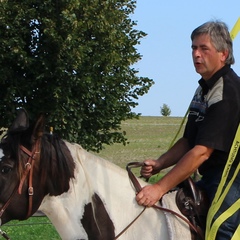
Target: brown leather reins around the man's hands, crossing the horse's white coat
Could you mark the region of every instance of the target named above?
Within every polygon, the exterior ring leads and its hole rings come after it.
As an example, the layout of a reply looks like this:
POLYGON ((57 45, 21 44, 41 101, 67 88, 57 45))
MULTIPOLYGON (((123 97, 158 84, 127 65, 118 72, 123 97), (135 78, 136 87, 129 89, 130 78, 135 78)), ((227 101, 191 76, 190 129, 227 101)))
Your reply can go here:
MULTIPOLYGON (((142 187, 140 185, 140 183, 138 182, 137 178, 135 177, 135 175, 132 173, 131 171, 131 168, 137 168, 137 167, 142 167, 144 165, 143 162, 130 162, 127 164, 126 166, 126 169, 127 169, 127 172, 128 172, 128 176, 136 190, 137 193, 139 193, 141 190, 142 190, 142 187)), ((168 209, 168 208, 164 208, 164 207, 161 207, 161 206, 157 206, 157 205, 153 205, 152 206, 153 208, 157 209, 157 210, 161 210, 161 211, 164 211, 164 212, 168 212, 168 213, 171 213, 171 214, 174 214, 175 216, 177 216, 178 218, 180 218, 181 220, 183 220, 185 223, 187 223, 190 227, 190 229, 192 229, 194 232, 196 232, 200 238, 202 240, 204 240, 204 236, 202 235, 202 233, 189 221, 187 220, 185 217, 183 217, 182 215, 180 215, 179 213, 171 210, 171 209, 168 209)), ((145 211, 146 207, 144 207, 143 211, 140 212, 140 214, 125 228, 123 229, 115 238, 119 238, 139 217, 140 215, 145 211)))

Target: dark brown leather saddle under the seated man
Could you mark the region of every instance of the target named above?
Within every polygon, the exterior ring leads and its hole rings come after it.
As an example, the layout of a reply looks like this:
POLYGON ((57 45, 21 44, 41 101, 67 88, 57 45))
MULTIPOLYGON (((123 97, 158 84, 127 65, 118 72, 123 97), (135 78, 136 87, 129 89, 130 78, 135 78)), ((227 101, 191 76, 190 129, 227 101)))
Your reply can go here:
MULTIPOLYGON (((187 217, 204 236, 209 200, 206 193, 195 185, 191 177, 180 184, 176 194, 176 205, 180 212, 187 217)), ((198 239, 198 236, 193 231, 192 239, 198 239)))

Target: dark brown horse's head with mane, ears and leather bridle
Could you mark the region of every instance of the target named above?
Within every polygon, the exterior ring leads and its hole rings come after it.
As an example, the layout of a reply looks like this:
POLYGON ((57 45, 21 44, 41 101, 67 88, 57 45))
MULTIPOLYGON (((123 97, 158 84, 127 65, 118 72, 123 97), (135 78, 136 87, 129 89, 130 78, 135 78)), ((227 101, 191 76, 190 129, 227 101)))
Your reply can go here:
POLYGON ((69 190, 74 162, 65 143, 44 132, 44 116, 29 125, 20 110, 0 143, 0 218, 23 220, 37 211, 45 195, 69 190))

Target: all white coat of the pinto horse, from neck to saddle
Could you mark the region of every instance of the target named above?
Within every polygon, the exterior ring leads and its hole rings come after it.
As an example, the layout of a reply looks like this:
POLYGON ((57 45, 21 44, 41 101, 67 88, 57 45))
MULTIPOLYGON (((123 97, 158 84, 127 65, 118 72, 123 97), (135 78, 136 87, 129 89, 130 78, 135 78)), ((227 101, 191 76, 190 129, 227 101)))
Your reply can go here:
MULTIPOLYGON (((39 210, 49 217, 61 239, 87 240, 89 236, 81 223, 81 219, 84 216, 86 204, 93 204, 92 196, 96 193, 114 224, 116 236, 143 209, 136 203, 135 189, 128 178, 127 172, 111 162, 87 152, 78 144, 66 144, 75 161, 75 178, 71 180, 68 192, 60 196, 47 195, 43 199, 39 210)), ((141 186, 147 184, 140 179, 139 183, 141 186)), ((189 229, 185 236, 185 240, 191 239, 189 229)), ((119 240, 143 238, 149 240, 180 239, 178 236, 169 233, 165 214, 153 208, 147 208, 137 219, 137 222, 132 224, 119 240)))

